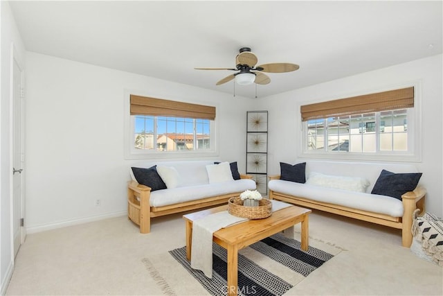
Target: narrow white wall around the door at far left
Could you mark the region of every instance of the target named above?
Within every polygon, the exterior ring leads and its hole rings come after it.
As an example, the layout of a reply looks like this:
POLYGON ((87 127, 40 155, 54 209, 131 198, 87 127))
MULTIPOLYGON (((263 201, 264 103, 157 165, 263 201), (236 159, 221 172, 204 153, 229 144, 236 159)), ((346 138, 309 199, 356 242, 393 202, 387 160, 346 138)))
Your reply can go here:
POLYGON ((20 60, 24 60, 24 46, 18 33, 9 3, 0 1, 1 21, 1 105, 0 105, 0 294, 3 295, 12 275, 12 225, 11 225, 11 44, 14 44, 20 60))

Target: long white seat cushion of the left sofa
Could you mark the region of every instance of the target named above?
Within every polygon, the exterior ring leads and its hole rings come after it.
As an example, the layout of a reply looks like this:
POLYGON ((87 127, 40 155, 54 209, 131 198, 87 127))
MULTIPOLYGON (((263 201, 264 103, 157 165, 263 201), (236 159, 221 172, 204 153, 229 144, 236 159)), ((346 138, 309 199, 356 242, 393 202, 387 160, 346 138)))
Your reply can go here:
POLYGON ((254 190, 255 187, 256 185, 253 180, 241 179, 215 184, 161 189, 151 192, 150 205, 151 207, 163 207, 169 204, 199 200, 201 198, 210 198, 217 195, 237 192, 241 193, 245 190, 254 190))

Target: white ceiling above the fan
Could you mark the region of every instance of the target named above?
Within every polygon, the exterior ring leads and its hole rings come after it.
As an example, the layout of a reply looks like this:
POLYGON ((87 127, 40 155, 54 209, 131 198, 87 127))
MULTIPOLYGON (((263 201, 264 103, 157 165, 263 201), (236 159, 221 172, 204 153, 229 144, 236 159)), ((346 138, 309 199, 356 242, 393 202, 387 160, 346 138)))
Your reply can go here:
MULTIPOLYGON (((442 1, 12 1, 26 50, 233 94, 239 48, 269 73, 259 97, 442 53, 442 1)), ((253 98, 254 85, 235 86, 253 98)))

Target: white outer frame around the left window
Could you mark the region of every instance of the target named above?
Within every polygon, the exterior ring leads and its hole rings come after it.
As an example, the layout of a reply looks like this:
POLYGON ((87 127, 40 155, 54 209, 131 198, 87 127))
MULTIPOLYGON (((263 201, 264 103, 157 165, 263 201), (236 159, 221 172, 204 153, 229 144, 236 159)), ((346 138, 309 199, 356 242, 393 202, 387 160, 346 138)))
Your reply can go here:
MULTIPOLYGON (((161 95, 152 94, 141 94, 140 92, 134 92, 125 90, 125 107, 123 108, 125 114, 125 124, 124 124, 124 150, 125 159, 170 159, 170 158, 189 158, 189 157, 218 157, 219 156, 219 136, 217 131, 219 123, 217 116, 215 120, 210 121, 210 144, 211 147, 208 150, 173 150, 173 151, 158 151, 153 150, 143 150, 136 149, 134 147, 134 130, 135 130, 135 120, 134 116, 130 114, 130 95, 136 94, 138 96, 152 96, 161 97, 161 95)), ((179 101, 179 100, 175 100, 179 101)), ((197 102, 187 102, 187 103, 197 103, 197 102)), ((201 103, 201 102, 199 102, 201 103)), ((214 103, 203 103, 203 105, 214 105, 214 103)), ((216 106, 217 110, 217 106, 216 106)))

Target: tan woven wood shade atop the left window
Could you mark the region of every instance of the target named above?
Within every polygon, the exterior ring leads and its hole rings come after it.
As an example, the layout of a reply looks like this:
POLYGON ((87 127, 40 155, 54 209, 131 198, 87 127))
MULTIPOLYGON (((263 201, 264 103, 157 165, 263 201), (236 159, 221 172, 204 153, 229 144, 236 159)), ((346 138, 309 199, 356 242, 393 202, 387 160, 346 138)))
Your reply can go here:
POLYGON ((215 107, 131 95, 131 115, 215 120, 215 107))

